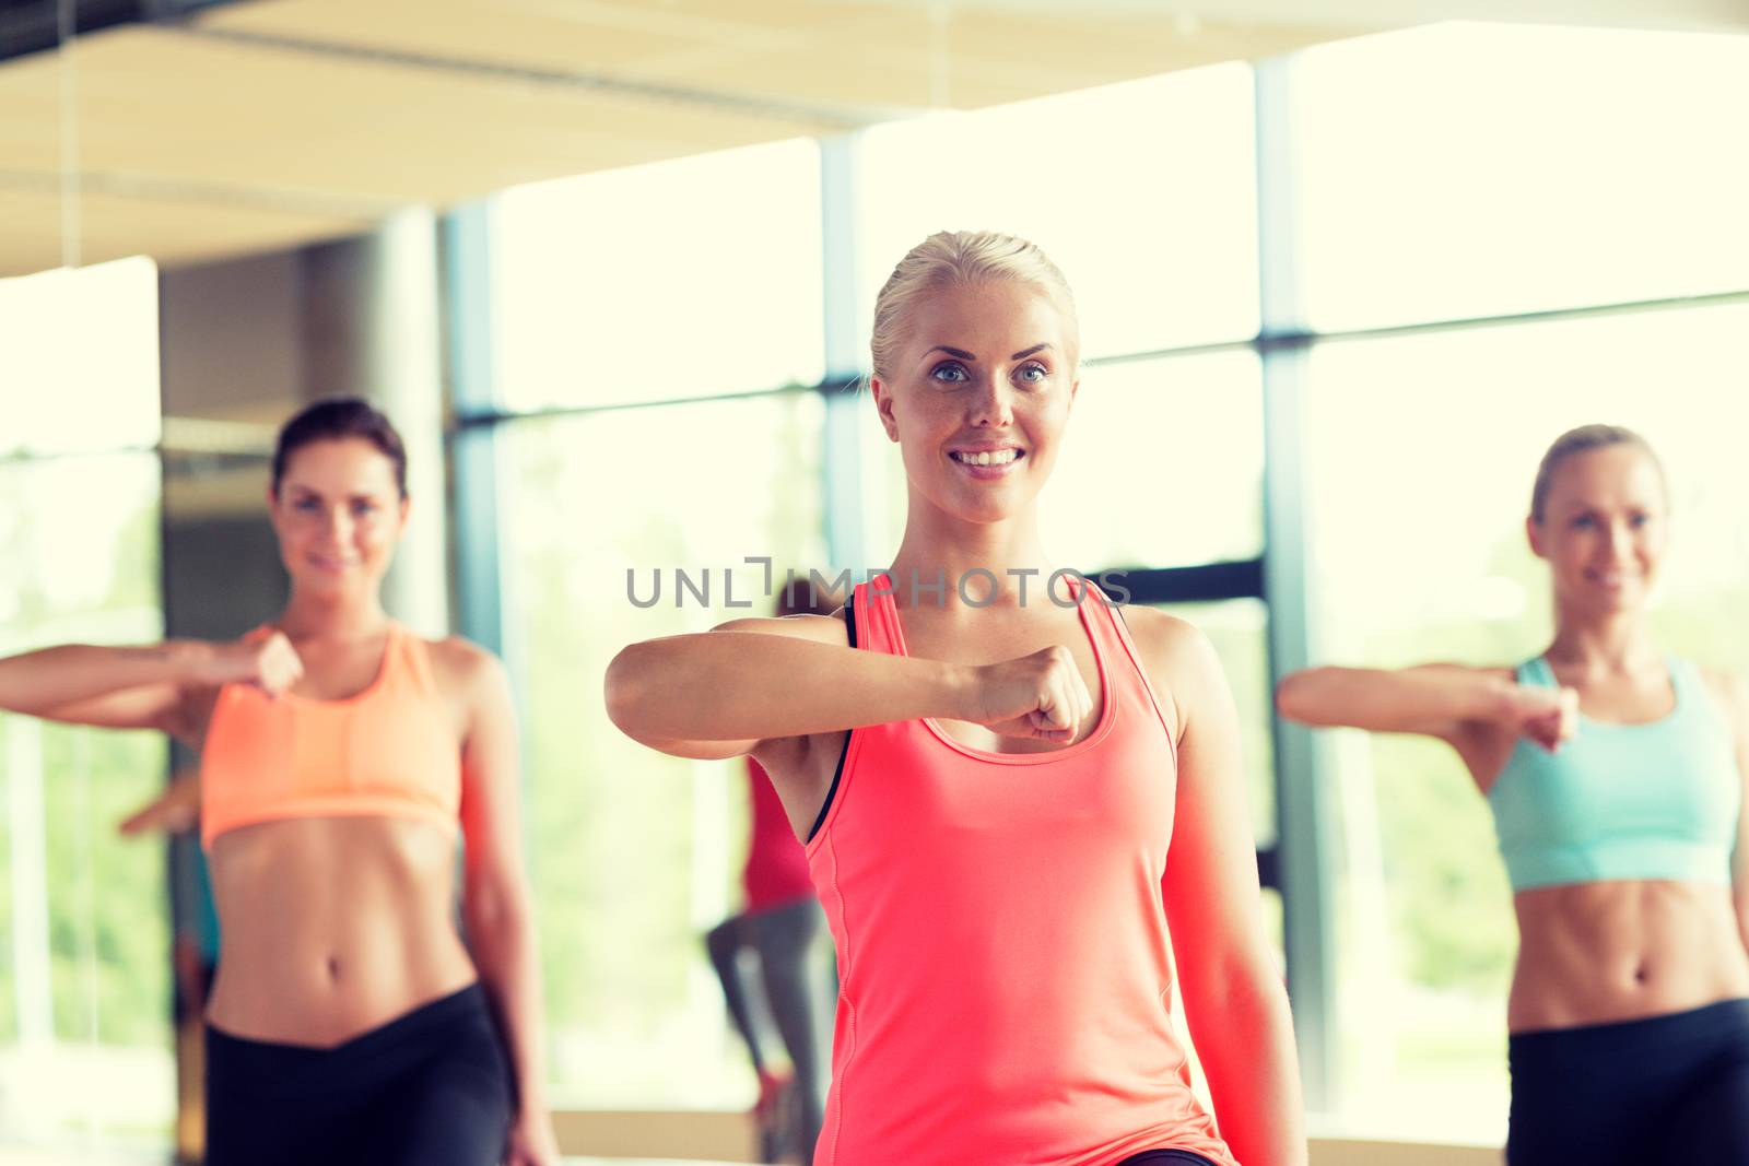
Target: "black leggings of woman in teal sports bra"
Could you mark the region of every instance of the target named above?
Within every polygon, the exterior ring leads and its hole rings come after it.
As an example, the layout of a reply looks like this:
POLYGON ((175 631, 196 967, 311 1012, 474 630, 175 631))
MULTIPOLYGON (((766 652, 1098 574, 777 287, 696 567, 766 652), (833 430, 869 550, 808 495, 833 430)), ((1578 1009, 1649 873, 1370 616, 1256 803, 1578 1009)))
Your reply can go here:
POLYGON ((1511 1166, 1749 1166, 1749 1000, 1508 1049, 1511 1166))

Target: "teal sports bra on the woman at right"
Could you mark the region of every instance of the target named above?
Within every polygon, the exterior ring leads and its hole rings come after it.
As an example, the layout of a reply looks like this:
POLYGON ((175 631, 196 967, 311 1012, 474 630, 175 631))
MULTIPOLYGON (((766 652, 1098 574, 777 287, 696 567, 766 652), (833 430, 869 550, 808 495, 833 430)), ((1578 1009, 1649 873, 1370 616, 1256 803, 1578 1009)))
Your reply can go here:
MULTIPOLYGON (((1558 687, 1537 657, 1518 684, 1558 687)), ((1670 661, 1676 708, 1620 725, 1579 717, 1550 753, 1520 739, 1488 790, 1515 892, 1611 879, 1732 881, 1744 781, 1730 725, 1698 670, 1670 661)))

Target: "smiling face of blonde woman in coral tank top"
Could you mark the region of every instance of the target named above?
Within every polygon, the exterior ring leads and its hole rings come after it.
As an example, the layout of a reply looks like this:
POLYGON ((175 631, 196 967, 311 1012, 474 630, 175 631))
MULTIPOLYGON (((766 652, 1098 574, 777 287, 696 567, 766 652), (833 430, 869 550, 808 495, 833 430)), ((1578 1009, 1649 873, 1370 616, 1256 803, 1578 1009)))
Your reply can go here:
POLYGON ((918 500, 972 523, 1032 505, 1056 463, 1079 381, 1070 316, 1013 280, 916 299, 871 388, 918 500))

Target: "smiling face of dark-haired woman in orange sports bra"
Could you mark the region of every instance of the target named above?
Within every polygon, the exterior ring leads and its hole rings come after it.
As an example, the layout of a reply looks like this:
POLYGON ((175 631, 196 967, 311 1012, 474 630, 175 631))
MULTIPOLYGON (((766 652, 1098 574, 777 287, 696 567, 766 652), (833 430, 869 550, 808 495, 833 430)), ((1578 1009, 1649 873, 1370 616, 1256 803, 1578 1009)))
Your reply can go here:
POLYGON ((299 446, 268 502, 292 586, 322 594, 374 589, 408 523, 395 463, 362 437, 299 446))

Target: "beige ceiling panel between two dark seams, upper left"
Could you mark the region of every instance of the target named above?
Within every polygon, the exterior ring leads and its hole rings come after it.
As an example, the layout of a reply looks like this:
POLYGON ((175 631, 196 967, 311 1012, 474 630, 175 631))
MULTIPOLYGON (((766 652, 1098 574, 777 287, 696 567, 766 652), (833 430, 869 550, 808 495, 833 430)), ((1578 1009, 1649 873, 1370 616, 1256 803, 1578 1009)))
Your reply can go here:
MULTIPOLYGON (((86 168, 236 191, 245 201, 297 212, 387 213, 397 205, 449 203, 537 178, 827 129, 687 101, 360 65, 159 28, 91 37, 77 58, 86 168)), ((38 82, 52 86, 52 72, 38 82)), ((42 168, 54 164, 56 131, 49 119, 12 126, 21 157, 42 168)))

